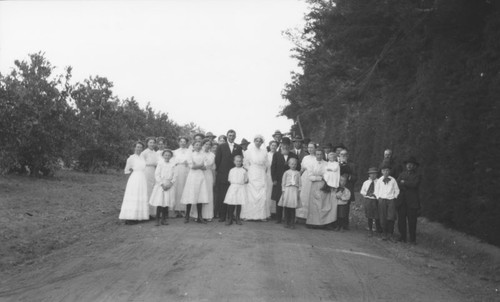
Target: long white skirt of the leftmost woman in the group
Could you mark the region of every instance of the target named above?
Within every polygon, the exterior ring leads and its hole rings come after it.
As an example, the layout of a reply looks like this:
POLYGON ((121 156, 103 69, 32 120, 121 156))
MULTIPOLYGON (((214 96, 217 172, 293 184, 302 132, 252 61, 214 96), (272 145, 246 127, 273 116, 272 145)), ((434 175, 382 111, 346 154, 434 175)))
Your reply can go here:
POLYGON ((123 195, 119 219, 148 220, 148 187, 146 176, 142 171, 130 174, 123 195))

